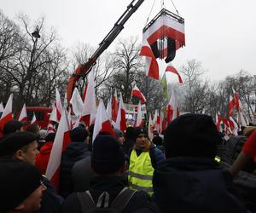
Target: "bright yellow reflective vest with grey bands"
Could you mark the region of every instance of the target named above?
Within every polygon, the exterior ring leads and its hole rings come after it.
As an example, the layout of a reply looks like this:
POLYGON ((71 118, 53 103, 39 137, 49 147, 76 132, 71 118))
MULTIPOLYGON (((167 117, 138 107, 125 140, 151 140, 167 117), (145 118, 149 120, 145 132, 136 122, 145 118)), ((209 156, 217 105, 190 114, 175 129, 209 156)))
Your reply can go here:
POLYGON ((135 150, 131 151, 128 181, 133 190, 143 190, 149 195, 153 194, 154 168, 151 164, 149 152, 143 152, 139 156, 135 150))

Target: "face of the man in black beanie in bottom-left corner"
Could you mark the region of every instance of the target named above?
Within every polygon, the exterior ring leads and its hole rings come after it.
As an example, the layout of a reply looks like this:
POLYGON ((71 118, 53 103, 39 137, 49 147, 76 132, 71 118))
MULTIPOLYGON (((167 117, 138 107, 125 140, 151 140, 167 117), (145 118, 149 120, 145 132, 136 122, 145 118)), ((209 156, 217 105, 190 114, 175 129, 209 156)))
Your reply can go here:
POLYGON ((25 205, 24 212, 35 212, 41 208, 42 194, 46 188, 47 187, 44 186, 44 183, 42 183, 33 193, 30 194, 29 197, 22 202, 22 204, 25 205))

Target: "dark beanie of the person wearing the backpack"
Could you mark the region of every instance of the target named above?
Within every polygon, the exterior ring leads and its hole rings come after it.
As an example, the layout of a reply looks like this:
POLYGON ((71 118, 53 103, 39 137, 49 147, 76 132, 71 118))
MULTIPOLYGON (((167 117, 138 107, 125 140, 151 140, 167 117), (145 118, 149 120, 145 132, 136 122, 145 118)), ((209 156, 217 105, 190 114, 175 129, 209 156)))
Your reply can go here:
POLYGON ((125 164, 125 151, 112 135, 97 135, 93 141, 91 167, 101 174, 113 174, 125 164))

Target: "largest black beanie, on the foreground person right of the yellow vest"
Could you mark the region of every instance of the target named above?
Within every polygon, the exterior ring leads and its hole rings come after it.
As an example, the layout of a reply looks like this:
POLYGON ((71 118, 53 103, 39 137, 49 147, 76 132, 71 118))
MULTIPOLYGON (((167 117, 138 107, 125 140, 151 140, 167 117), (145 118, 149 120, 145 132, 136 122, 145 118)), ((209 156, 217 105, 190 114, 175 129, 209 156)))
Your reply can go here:
POLYGON ((214 158, 220 141, 221 137, 211 116, 185 114, 174 119, 165 130, 166 158, 214 158))

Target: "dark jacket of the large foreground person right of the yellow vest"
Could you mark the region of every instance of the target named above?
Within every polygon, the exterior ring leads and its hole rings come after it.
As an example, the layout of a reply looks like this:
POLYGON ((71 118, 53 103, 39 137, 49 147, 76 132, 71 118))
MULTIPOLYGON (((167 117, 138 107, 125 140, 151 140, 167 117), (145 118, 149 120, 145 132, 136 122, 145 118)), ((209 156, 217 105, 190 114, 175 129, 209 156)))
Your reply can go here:
POLYGON ((212 159, 166 159, 154 170, 153 187, 161 212, 246 212, 236 198, 230 173, 212 159))

